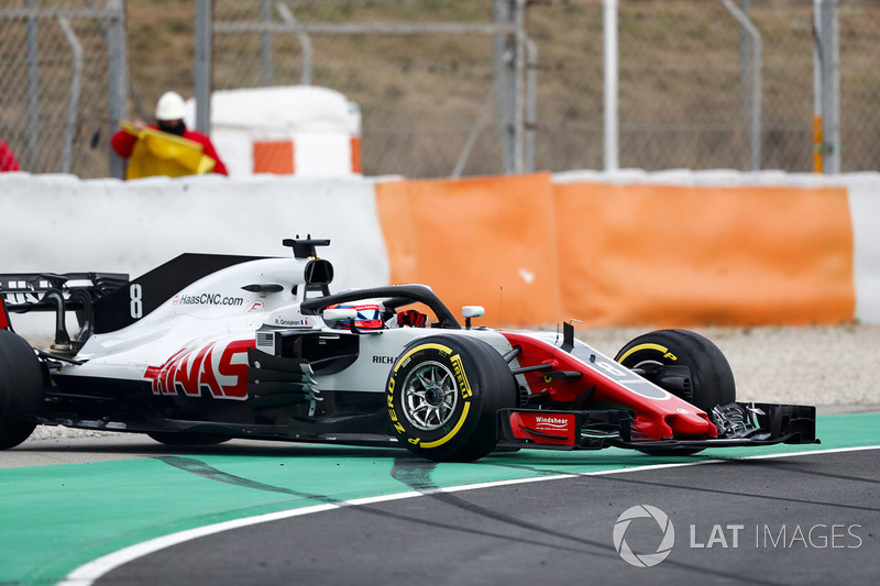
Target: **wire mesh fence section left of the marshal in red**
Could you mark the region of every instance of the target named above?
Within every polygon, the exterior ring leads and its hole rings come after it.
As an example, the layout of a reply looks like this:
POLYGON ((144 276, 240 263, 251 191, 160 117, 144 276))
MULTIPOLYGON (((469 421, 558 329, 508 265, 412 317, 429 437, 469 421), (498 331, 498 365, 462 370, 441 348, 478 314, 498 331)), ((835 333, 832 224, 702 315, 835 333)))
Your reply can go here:
POLYGON ((124 55, 121 0, 0 1, 0 140, 23 169, 107 175, 124 55))

